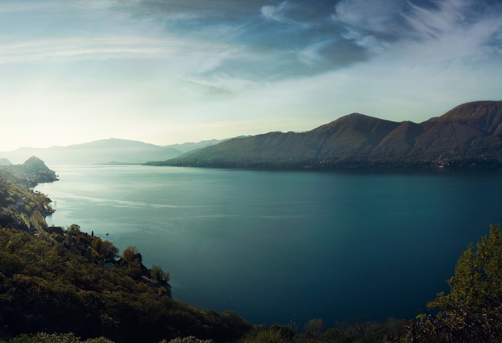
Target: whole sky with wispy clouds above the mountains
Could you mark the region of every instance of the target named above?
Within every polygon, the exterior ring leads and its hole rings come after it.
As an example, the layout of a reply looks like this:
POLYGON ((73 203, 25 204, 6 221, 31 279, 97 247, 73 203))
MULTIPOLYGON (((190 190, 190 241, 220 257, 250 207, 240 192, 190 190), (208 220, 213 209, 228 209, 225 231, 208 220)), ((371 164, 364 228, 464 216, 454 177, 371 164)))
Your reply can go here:
POLYGON ((498 0, 2 0, 0 151, 421 122, 501 72, 498 0))

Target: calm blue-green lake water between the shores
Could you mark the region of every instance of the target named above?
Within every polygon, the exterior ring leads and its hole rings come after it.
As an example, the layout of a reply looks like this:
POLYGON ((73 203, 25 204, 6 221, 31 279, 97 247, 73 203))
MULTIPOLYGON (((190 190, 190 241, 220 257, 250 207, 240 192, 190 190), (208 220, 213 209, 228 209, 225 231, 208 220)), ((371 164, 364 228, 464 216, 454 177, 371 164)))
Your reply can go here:
POLYGON ((254 323, 415 317, 502 217, 497 171, 50 167, 49 224, 135 245, 175 299, 254 323))

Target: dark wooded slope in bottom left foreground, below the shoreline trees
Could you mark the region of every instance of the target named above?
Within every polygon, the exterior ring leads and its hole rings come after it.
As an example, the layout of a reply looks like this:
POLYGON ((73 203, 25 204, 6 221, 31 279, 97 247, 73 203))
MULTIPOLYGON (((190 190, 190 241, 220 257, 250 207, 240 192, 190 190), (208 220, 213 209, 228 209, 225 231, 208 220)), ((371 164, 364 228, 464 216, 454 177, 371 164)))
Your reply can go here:
MULTIPOLYGON (((83 341, 102 336, 115 342, 157 343, 190 335, 235 341, 249 330, 250 325, 232 312, 177 302, 127 276, 119 266, 93 263, 84 256, 95 237, 77 235, 79 242, 72 237, 68 249, 47 236, 0 228, 0 339, 71 331, 83 341), (76 247, 87 242, 82 256, 76 247)), ((43 341, 32 336, 19 339, 43 341)))

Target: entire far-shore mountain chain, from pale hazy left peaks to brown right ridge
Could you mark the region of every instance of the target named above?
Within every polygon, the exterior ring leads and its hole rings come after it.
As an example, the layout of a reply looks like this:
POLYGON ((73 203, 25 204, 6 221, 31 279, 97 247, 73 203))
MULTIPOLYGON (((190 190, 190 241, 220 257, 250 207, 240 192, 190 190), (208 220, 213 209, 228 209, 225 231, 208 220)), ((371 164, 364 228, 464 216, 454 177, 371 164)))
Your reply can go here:
POLYGON ((148 164, 242 168, 502 164, 502 101, 461 104, 421 123, 352 113, 307 132, 269 132, 167 146, 102 139, 0 152, 1 164, 148 164), (150 162, 147 162, 150 161, 150 162))

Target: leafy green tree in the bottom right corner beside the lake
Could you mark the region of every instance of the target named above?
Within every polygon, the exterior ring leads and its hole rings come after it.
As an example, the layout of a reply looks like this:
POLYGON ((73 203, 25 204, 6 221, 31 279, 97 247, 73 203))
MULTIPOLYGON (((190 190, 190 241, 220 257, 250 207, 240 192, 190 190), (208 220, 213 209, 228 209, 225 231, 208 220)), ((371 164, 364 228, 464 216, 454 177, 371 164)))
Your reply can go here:
POLYGON ((438 309, 433 317, 419 315, 410 326, 412 337, 433 342, 502 341, 502 232, 490 225, 489 236, 467 246, 446 281, 450 293, 441 292, 427 306, 438 309))

